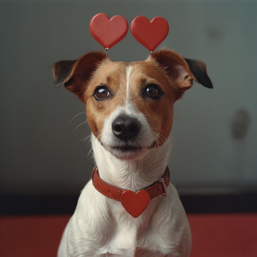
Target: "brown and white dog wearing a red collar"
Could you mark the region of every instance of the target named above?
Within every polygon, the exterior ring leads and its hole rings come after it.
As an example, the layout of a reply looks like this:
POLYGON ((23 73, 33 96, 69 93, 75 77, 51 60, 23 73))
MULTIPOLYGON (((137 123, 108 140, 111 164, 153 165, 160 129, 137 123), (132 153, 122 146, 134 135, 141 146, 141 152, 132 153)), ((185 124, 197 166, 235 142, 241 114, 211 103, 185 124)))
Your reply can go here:
POLYGON ((163 182, 163 174, 174 103, 193 80, 213 87, 205 63, 165 48, 130 63, 88 52, 77 60, 54 63, 53 76, 56 87, 64 85, 86 105, 97 165, 63 232, 58 257, 189 256, 186 213, 177 190, 166 183, 167 174, 163 182), (101 191, 94 179, 112 192, 101 191), (136 198, 127 211, 126 203, 112 197, 123 189, 147 191, 149 185, 161 192, 146 200, 140 215, 133 213, 141 208, 136 198))

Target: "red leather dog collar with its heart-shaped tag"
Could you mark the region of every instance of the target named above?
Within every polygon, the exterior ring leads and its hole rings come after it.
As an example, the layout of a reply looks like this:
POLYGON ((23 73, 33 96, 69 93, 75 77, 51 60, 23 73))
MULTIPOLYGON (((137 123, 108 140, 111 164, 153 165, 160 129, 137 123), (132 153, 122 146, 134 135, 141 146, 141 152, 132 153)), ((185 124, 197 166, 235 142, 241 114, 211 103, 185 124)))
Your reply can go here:
POLYGON ((167 195, 166 188, 170 182, 170 172, 167 167, 161 178, 139 189, 136 193, 131 190, 115 187, 102 180, 99 177, 97 166, 94 167, 91 178, 96 190, 109 198, 120 201, 125 210, 136 218, 145 210, 151 199, 159 195, 167 195))

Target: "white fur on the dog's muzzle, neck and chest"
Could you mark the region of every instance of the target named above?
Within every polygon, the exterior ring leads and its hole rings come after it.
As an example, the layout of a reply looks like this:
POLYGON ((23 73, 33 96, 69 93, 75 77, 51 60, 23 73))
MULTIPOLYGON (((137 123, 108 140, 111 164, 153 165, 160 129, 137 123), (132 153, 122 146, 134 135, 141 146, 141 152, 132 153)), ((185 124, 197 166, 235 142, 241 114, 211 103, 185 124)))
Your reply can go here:
MULTIPOLYGON (((91 136, 100 177, 132 191, 160 178, 167 166, 170 143, 148 149, 154 139, 142 113, 131 103, 118 106, 104 123, 102 144, 91 136), (117 143, 111 124, 121 113, 137 118, 142 128, 138 135, 142 153, 134 160, 118 159, 107 150, 107 145, 117 143)), ((191 234, 186 214, 171 183, 167 191, 167 196, 153 198, 146 210, 133 218, 119 201, 98 192, 90 180, 65 228, 58 257, 188 257, 191 234)))

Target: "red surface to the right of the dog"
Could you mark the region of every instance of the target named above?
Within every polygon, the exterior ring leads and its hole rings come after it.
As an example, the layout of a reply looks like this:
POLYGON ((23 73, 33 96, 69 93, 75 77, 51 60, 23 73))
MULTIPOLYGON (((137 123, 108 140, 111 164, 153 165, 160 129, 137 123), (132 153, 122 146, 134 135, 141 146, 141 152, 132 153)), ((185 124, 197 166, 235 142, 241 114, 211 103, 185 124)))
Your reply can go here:
POLYGON ((188 215, 190 257, 256 257, 257 214, 188 215))

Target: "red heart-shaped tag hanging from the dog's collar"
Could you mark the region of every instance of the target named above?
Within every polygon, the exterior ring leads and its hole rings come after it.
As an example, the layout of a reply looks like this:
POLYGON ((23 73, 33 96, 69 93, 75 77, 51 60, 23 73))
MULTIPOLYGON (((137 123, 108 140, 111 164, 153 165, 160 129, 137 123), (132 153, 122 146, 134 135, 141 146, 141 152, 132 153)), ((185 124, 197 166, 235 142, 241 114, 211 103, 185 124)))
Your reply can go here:
POLYGON ((134 218, 137 218, 148 206, 150 195, 145 190, 139 190, 136 193, 127 190, 121 194, 121 204, 124 209, 134 218))

